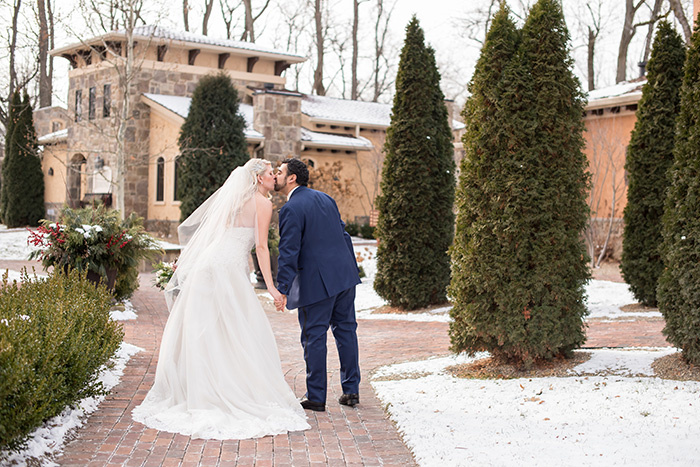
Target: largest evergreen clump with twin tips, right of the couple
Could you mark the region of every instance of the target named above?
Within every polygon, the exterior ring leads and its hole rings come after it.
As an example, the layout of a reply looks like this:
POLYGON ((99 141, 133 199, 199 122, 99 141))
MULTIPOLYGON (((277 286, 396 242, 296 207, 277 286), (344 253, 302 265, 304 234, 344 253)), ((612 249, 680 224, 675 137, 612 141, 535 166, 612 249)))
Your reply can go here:
POLYGON ((583 96, 559 2, 505 4, 470 84, 452 247, 452 349, 531 363, 585 340, 583 96))

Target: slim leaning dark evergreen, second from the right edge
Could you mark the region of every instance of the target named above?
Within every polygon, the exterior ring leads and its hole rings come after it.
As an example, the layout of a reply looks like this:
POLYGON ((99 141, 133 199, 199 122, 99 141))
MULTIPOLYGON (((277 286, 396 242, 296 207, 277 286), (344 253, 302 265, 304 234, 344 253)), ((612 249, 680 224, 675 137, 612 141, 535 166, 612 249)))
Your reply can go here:
POLYGON ((629 187, 620 266, 635 298, 647 306, 656 306, 663 271, 661 218, 667 172, 673 162, 684 60, 683 39, 670 23, 661 21, 625 162, 629 187))

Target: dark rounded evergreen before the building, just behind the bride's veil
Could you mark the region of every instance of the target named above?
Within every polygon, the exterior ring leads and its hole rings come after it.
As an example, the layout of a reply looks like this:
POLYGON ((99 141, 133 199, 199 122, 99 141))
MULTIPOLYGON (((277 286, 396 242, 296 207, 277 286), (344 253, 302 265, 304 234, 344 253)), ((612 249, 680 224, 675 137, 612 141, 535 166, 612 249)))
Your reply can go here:
POLYGON ((238 92, 225 73, 202 78, 180 129, 178 196, 182 220, 224 184, 250 156, 238 92))

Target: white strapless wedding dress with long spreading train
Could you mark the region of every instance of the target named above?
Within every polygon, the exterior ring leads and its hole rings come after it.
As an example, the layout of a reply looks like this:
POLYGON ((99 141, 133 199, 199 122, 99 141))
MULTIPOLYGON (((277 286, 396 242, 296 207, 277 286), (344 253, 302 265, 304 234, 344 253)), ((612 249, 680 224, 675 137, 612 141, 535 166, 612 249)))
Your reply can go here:
POLYGON ((254 227, 222 227, 197 252, 163 331, 153 387, 134 420, 205 439, 310 428, 284 380, 270 323, 250 283, 254 227))

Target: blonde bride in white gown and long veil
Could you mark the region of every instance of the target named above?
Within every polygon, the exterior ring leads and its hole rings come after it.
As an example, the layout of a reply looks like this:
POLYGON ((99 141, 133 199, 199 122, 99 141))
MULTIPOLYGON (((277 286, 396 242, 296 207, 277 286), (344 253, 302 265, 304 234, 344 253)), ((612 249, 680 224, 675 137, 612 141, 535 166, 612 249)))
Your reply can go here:
POLYGON ((267 289, 270 271, 269 161, 251 159, 178 228, 186 245, 166 287, 170 316, 155 382, 137 422, 205 439, 246 439, 310 428, 282 374, 270 323, 248 275, 256 245, 267 289))

